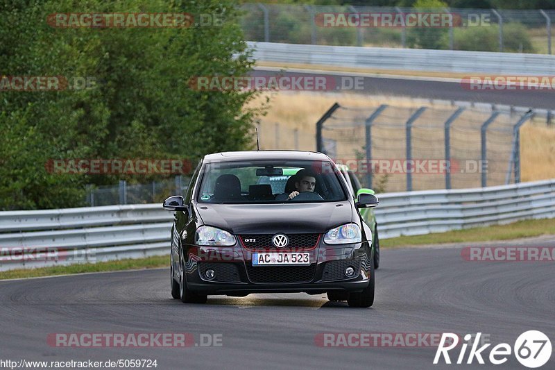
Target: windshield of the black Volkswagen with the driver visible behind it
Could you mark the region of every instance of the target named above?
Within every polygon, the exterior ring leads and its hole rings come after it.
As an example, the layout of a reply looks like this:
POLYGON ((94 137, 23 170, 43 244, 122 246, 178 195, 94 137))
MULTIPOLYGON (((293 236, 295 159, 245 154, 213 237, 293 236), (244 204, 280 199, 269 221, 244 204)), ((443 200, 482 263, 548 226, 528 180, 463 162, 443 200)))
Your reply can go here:
POLYGON ((345 201, 332 162, 241 161, 207 163, 199 203, 317 203, 345 201))

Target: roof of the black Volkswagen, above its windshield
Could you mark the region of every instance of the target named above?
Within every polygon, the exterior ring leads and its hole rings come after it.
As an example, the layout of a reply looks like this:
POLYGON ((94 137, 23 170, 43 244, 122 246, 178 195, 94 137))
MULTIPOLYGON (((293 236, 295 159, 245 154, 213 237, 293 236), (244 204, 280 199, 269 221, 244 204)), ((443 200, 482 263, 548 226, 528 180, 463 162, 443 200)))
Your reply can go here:
POLYGON ((239 160, 325 160, 330 157, 316 151, 224 151, 207 154, 204 162, 234 162, 239 160))

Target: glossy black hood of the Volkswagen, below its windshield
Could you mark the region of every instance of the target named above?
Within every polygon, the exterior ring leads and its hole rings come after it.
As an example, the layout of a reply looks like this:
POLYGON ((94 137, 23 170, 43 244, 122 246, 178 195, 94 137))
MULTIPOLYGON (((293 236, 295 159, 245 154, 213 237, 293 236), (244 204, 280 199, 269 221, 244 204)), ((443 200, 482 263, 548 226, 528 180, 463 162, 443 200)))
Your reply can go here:
POLYGON ((352 222, 348 201, 331 203, 197 204, 203 224, 234 234, 325 233, 352 222))

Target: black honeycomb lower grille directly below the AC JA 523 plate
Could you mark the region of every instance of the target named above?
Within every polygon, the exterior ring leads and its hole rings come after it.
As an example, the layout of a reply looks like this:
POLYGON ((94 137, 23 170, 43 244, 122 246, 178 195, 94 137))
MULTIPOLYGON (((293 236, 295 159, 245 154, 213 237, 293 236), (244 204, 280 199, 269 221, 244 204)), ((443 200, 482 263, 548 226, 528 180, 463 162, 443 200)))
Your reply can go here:
POLYGON ((316 264, 310 266, 264 266, 247 265, 247 274, 253 283, 308 283, 314 279, 316 264))

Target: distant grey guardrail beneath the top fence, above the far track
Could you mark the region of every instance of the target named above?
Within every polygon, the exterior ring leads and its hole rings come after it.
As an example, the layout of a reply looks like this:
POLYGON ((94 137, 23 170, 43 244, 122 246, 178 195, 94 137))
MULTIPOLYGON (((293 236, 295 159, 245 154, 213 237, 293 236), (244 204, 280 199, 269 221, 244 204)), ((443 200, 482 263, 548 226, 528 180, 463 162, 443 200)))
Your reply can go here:
POLYGON ((555 74, 555 56, 539 54, 336 47, 275 42, 248 42, 248 45, 254 49, 255 60, 266 62, 474 74, 555 74))

